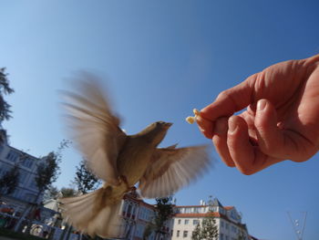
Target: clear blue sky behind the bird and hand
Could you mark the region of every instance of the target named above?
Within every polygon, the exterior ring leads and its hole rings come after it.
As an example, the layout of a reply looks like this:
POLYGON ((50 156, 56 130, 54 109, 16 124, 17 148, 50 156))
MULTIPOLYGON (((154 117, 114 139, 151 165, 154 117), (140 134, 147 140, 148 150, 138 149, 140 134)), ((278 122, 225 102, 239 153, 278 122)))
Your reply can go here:
MULTIPOLYGON (((210 143, 184 118, 218 93, 276 62, 319 53, 314 1, 1 1, 0 67, 15 93, 4 123, 12 146, 35 156, 66 138, 58 89, 79 69, 105 76, 123 128, 174 122, 167 146, 210 143)), ((287 86, 289 88, 289 86, 287 86)), ((178 204, 209 195, 234 205, 252 235, 294 239, 287 211, 304 239, 319 237, 318 155, 282 162, 252 176, 221 163, 176 194, 178 204)), ((80 156, 66 151, 57 186, 74 178, 80 156)))

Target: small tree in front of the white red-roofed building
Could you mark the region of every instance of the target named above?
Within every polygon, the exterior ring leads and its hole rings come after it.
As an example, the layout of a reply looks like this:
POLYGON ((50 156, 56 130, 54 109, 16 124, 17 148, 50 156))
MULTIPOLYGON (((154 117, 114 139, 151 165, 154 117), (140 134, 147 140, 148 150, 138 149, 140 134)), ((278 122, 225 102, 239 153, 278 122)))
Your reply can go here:
POLYGON ((218 227, 213 214, 210 212, 201 221, 201 224, 197 224, 195 231, 191 235, 192 240, 214 240, 218 237, 218 227))

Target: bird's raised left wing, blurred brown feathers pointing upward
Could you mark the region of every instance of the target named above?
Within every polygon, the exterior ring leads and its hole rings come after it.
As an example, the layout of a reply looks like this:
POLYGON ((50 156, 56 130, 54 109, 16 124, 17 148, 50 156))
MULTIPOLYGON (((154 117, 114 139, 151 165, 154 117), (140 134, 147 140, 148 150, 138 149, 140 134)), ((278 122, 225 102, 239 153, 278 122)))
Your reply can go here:
POLYGON ((118 184, 118 151, 127 138, 120 120, 109 106, 97 77, 82 73, 74 82, 74 92, 63 91, 67 101, 67 125, 87 166, 98 178, 118 184))

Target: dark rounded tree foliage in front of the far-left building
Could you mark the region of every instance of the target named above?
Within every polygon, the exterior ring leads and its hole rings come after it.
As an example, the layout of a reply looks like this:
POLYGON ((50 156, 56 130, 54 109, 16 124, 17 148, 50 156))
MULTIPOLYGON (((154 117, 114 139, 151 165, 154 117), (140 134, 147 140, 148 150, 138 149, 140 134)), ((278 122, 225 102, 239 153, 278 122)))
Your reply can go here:
POLYGON ((10 194, 15 192, 15 188, 19 183, 19 169, 18 165, 5 172, 5 174, 0 178, 0 192, 3 194, 10 194))

